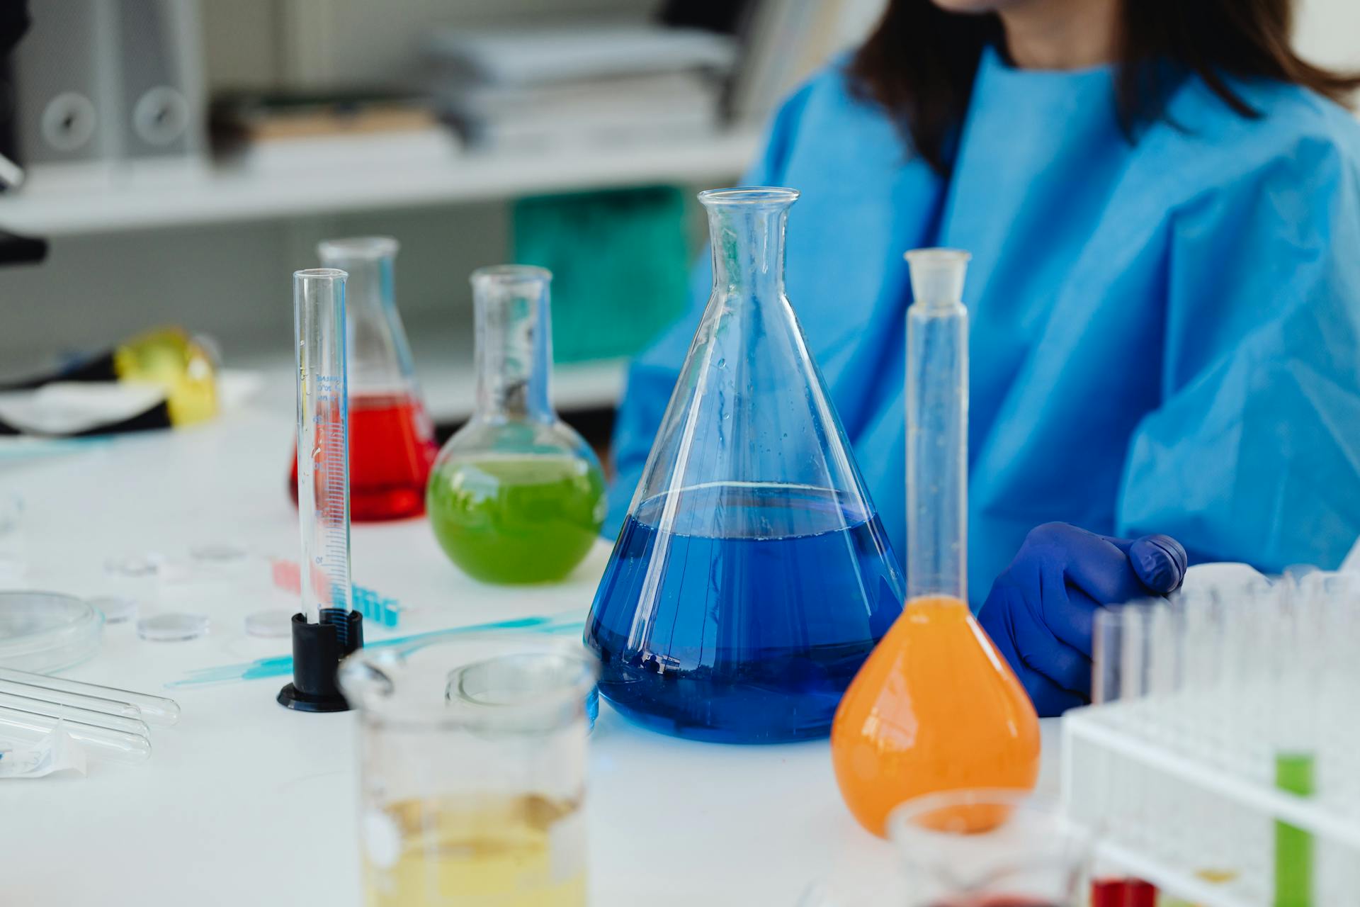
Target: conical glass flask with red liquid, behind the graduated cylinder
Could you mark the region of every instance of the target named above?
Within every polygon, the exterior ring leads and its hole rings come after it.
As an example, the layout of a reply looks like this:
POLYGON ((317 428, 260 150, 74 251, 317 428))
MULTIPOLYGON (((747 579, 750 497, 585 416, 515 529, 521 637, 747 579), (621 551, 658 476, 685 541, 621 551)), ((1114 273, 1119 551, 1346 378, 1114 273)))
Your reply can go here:
MULTIPOLYGON (((438 446, 416 385, 407 333, 397 314, 389 237, 326 239, 326 268, 350 275, 345 343, 350 359, 350 517, 355 522, 424 513, 424 488, 438 446)), ((288 488, 296 503, 294 456, 288 488)))

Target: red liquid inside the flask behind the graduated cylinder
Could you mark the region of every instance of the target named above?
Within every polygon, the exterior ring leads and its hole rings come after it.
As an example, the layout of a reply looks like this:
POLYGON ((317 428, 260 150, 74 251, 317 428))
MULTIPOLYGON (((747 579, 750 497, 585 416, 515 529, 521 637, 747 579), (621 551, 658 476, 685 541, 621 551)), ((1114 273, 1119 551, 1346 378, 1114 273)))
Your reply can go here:
MULTIPOLYGON (((424 513, 424 487, 439 451, 424 408, 411 397, 350 397, 350 519, 377 522, 424 513)), ((298 503, 294 445, 288 494, 298 503)))

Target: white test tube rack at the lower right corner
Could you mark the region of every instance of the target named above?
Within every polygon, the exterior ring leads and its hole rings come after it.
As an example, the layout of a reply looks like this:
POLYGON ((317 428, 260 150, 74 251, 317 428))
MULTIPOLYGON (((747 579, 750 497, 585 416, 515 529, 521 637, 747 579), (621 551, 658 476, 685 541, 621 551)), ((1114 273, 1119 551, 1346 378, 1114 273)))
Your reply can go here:
POLYGON ((1200 734, 1172 732, 1176 717, 1212 714, 1208 699, 1119 700, 1064 717, 1062 798, 1095 829, 1096 863, 1198 907, 1274 907, 1274 829, 1284 821, 1312 835, 1311 904, 1360 906, 1360 789, 1344 779, 1318 797, 1296 795, 1274 786, 1259 742, 1231 734, 1205 747, 1200 734))

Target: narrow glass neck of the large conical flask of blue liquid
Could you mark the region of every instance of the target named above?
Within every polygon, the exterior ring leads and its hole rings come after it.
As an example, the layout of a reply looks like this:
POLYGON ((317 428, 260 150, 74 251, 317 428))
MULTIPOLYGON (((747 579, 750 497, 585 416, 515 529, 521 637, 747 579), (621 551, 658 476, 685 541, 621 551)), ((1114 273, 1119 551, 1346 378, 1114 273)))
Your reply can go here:
POLYGON ((752 299, 783 295, 783 231, 789 201, 704 201, 714 286, 752 299))

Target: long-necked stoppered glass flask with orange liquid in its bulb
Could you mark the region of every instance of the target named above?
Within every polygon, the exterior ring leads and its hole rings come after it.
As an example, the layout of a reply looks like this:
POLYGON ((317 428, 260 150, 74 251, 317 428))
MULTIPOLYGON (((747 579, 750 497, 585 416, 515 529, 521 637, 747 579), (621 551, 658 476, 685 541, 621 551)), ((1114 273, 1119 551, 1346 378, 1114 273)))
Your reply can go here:
MULTIPOLYGON (((899 804, 1032 789, 1039 717, 967 597, 968 254, 907 253, 907 602, 836 708, 831 760, 854 817, 883 836, 899 804)), ((1004 815, 960 816, 975 831, 1004 815)))

